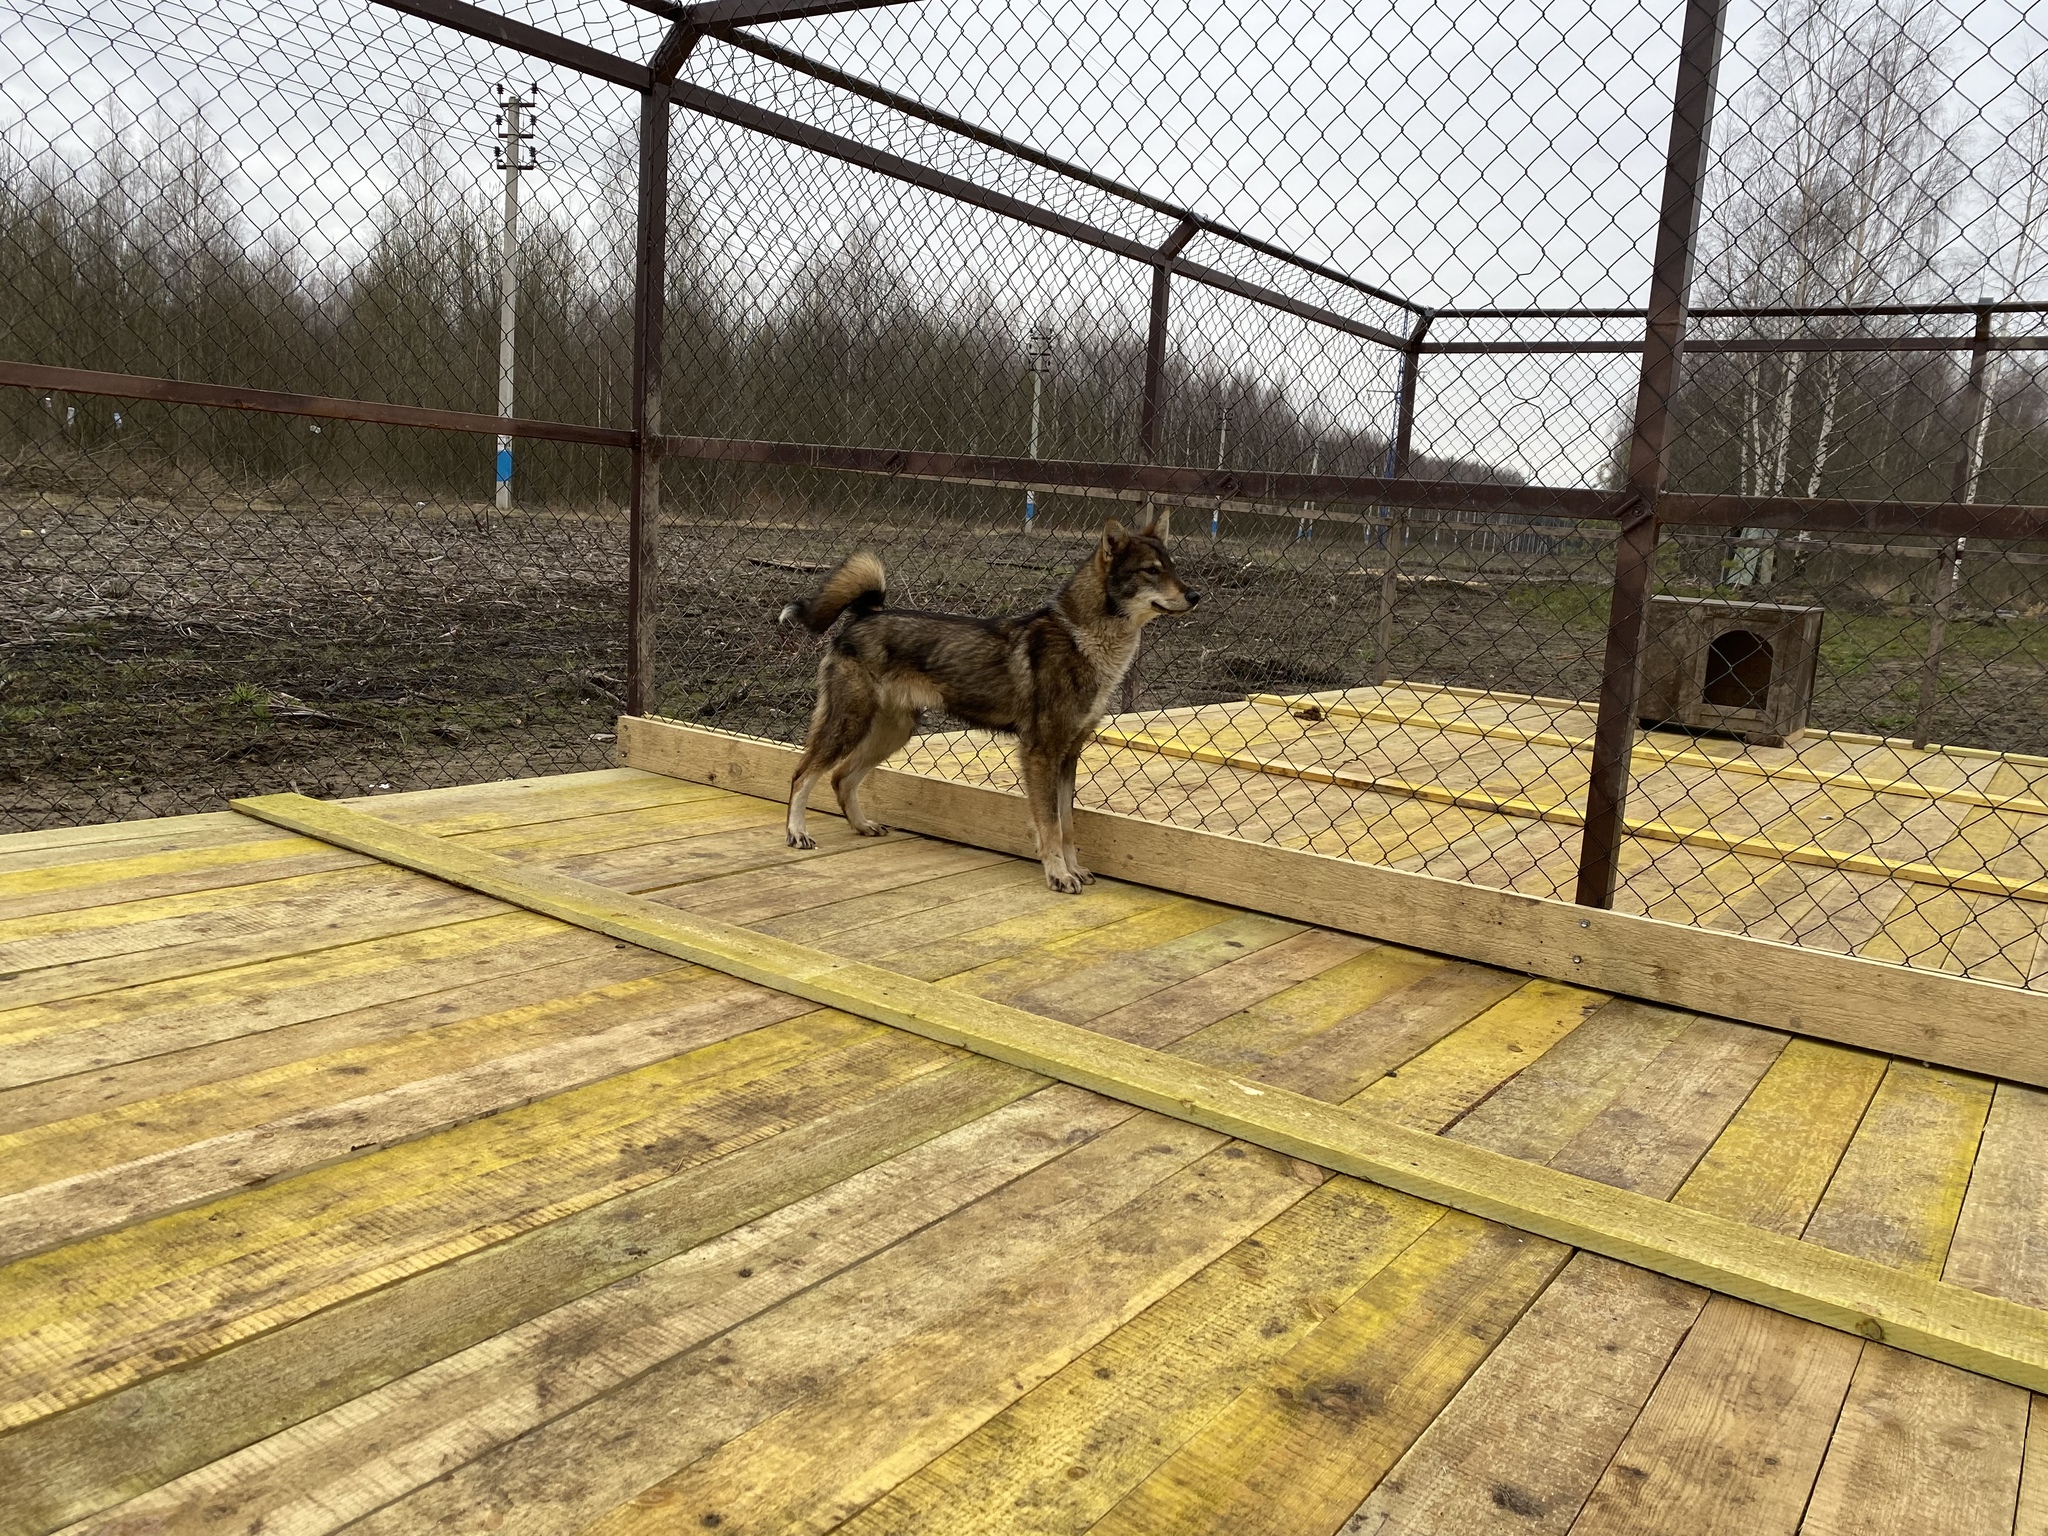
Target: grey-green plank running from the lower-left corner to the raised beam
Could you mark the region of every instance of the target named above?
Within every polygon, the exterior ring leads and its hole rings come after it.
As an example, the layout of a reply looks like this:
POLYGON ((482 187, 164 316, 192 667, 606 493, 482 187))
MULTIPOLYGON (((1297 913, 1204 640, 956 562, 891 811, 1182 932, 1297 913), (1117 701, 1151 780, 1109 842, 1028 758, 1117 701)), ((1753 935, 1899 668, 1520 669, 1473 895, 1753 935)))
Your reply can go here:
POLYGON ((0 1436, 4 1536, 41 1536, 401 1380, 1044 1085, 963 1057, 618 1200, 0 1436))

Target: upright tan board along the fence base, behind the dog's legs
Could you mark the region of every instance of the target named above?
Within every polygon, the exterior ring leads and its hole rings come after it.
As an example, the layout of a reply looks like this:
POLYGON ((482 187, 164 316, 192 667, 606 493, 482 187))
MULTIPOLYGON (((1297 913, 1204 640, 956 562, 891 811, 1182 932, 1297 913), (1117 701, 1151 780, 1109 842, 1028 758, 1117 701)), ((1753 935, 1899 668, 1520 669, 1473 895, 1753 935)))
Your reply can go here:
MULTIPOLYGON (((629 762, 776 797, 791 750, 664 721, 621 721, 629 762)), ((879 770, 895 825, 1030 854, 1022 803, 879 770)), ((1698 1008, 1745 1024, 2048 1085, 2048 997, 1878 961, 1593 911, 1288 848, 1075 811, 1094 868, 1210 901, 1386 938, 1436 954, 1698 1008)))

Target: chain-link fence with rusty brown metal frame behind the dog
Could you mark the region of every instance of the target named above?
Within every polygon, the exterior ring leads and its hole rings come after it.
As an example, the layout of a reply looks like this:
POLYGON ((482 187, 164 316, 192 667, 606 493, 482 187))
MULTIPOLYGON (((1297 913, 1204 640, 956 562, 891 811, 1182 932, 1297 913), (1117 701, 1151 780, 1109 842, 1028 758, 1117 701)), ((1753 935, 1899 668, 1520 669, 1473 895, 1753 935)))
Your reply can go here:
MULTIPOLYGON (((0 823, 801 739, 1147 631, 1079 799, 2036 985, 2048 61, 1927 0, 35 0, 0 823), (496 440, 494 440, 496 438, 496 440), (1649 729, 1640 729, 1649 727, 1649 729)), ((911 768, 1016 782, 940 713, 911 768)))

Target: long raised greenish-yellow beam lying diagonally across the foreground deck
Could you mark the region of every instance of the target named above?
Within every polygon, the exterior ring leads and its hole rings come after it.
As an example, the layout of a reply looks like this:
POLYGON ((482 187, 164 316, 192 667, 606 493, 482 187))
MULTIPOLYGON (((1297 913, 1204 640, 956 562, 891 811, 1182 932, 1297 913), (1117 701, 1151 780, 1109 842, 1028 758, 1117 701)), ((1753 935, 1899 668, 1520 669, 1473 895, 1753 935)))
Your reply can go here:
POLYGON ((2048 1391, 2048 1311, 1835 1253, 1518 1157, 1249 1083, 1184 1057, 516 864, 301 795, 238 811, 662 954, 705 965, 1288 1157, 1792 1317, 2048 1391))

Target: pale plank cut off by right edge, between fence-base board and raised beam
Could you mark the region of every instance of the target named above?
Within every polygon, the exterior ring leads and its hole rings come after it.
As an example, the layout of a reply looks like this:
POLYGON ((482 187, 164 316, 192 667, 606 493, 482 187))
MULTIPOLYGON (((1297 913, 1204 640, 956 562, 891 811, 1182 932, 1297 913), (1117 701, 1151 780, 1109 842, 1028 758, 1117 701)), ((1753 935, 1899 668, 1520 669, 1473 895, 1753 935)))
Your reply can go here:
POLYGON ((1942 1278, 2048 1307, 2048 1094, 1999 1083, 1942 1278))

